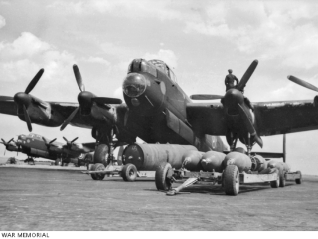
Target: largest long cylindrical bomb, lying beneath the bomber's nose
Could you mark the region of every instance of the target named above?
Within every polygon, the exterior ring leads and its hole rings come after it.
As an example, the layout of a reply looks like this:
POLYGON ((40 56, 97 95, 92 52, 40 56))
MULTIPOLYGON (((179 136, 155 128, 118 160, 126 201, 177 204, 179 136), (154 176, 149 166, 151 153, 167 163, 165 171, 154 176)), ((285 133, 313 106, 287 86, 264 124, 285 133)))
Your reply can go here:
POLYGON ((123 163, 132 163, 137 170, 155 171, 161 162, 168 162, 172 168, 180 169, 182 156, 197 148, 178 144, 139 144, 128 145, 123 152, 123 163))

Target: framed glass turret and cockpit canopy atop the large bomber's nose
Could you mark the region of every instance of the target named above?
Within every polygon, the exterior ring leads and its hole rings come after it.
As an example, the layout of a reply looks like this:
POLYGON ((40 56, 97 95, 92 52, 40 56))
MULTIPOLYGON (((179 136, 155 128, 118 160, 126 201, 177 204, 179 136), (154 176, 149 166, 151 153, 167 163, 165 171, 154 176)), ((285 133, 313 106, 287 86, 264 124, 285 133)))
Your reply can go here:
POLYGON ((147 72, 157 77, 157 70, 165 73, 173 82, 177 82, 177 78, 169 66, 161 60, 134 59, 128 66, 128 72, 147 72))

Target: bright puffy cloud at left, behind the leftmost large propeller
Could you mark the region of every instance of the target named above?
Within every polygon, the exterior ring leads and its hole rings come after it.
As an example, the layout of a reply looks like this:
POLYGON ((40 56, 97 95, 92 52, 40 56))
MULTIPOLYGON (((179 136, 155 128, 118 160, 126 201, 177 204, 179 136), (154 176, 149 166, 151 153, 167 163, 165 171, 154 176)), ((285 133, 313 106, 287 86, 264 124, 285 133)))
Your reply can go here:
POLYGON ((23 32, 13 42, 1 42, 0 45, 1 81, 25 85, 24 82, 44 68, 45 78, 49 81, 43 81, 43 86, 62 83, 75 62, 73 55, 58 51, 30 32, 23 32))

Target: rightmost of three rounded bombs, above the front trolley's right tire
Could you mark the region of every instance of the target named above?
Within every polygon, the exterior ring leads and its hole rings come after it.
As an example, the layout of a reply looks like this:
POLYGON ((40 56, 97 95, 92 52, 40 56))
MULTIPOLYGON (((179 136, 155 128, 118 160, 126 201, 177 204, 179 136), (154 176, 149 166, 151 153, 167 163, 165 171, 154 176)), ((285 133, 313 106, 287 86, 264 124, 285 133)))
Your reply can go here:
POLYGON ((239 168, 239 172, 241 173, 243 171, 246 172, 251 169, 252 161, 246 154, 239 152, 230 152, 223 160, 223 169, 225 169, 226 166, 228 166, 229 164, 236 165, 239 168))

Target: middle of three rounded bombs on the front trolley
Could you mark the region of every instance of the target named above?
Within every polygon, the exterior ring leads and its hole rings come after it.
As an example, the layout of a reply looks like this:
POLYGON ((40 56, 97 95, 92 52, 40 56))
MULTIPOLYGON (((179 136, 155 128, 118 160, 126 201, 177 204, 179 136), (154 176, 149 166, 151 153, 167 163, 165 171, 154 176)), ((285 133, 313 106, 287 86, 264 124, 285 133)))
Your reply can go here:
POLYGON ((226 155, 224 153, 209 151, 203 154, 201 159, 201 165, 207 172, 222 172, 222 162, 226 155))

